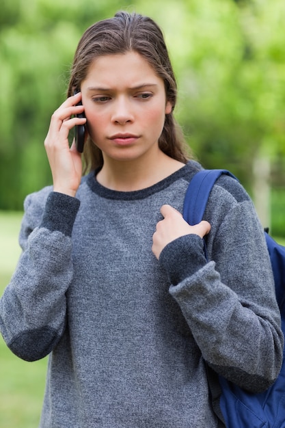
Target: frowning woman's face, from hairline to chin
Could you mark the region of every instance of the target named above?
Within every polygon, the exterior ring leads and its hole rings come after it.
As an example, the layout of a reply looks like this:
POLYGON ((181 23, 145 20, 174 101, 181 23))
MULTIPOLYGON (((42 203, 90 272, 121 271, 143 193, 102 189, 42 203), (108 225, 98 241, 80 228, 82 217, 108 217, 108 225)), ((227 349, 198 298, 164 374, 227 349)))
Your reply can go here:
POLYGON ((94 60, 81 83, 88 131, 104 160, 146 159, 158 152, 165 114, 172 111, 163 79, 131 51, 94 60))

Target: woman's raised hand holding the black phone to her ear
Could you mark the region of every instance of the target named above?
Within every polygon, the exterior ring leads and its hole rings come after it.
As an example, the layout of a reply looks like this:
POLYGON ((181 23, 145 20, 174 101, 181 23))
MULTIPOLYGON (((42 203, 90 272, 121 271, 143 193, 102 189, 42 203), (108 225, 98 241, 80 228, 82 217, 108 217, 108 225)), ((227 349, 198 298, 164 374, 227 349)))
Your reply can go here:
POLYGON ((53 175, 53 191, 75 196, 82 175, 81 154, 77 152, 74 141, 69 147, 68 134, 75 125, 86 123, 85 118, 72 117, 84 111, 81 92, 70 96, 51 116, 49 132, 44 147, 53 175))

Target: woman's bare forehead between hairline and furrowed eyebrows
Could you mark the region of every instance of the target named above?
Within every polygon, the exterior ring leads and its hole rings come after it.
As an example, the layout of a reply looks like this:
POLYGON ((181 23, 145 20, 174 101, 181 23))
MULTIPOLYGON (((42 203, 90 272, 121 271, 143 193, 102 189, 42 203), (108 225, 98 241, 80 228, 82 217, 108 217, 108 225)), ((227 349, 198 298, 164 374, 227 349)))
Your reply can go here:
POLYGON ((111 88, 119 83, 133 86, 142 82, 163 85, 163 80, 157 76, 149 62, 139 53, 131 51, 102 55, 94 59, 82 84, 92 83, 92 85, 105 85, 105 88, 111 88))

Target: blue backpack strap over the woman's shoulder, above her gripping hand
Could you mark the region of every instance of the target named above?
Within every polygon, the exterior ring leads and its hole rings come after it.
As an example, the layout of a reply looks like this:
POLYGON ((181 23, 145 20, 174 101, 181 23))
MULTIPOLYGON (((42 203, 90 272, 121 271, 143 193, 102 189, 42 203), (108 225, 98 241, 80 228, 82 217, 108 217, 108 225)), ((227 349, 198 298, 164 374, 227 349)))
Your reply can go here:
POLYGON ((191 179, 185 194, 183 218, 193 226, 202 221, 209 194, 222 174, 232 176, 228 170, 200 170, 191 179))

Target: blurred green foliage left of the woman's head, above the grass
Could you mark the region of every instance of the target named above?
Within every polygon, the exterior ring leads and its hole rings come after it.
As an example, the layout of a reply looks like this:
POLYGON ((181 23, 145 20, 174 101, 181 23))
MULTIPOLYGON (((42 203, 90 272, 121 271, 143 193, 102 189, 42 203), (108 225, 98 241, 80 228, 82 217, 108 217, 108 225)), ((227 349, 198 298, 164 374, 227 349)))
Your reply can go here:
MULTIPOLYGON (((125 2, 126 4, 126 2, 125 2)), ((51 183, 44 137, 83 31, 124 1, 4 0, 0 27, 0 209, 51 183)))

